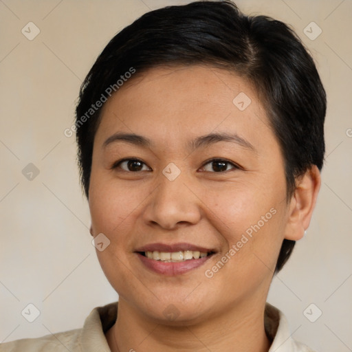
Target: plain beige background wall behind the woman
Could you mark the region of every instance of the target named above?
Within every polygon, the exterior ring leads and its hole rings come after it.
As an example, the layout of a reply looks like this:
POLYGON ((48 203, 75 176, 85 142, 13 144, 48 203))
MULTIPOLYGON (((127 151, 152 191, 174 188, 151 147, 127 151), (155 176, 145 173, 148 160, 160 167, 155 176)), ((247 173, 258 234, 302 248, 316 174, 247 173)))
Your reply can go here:
MULTIPOLYGON (((149 9, 188 2, 0 0, 0 342, 82 327, 91 309, 117 300, 91 245, 75 140, 63 131, 81 81, 111 37, 149 9), (30 21, 41 31, 32 41, 21 33, 30 21), (32 181, 22 173, 29 163, 39 169, 32 181), (32 323, 21 315, 29 303, 41 312, 32 323)), ((328 94, 314 219, 268 300, 285 312, 297 340, 321 352, 352 351, 352 1, 236 3, 290 23, 328 94), (314 41, 303 32, 311 21, 322 29, 314 41), (322 311, 315 322, 303 314, 311 303, 311 316, 322 311)))

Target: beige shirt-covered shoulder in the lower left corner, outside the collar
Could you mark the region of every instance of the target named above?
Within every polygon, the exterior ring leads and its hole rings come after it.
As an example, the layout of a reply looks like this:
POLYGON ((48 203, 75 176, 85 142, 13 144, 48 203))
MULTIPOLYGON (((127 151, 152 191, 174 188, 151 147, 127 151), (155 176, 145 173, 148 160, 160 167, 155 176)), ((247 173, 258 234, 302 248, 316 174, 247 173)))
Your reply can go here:
POLYGON ((55 333, 54 335, 45 335, 40 338, 23 338, 21 340, 5 342, 0 344, 0 352, 71 352, 81 351, 80 349, 80 333, 82 329, 75 329, 55 333))

